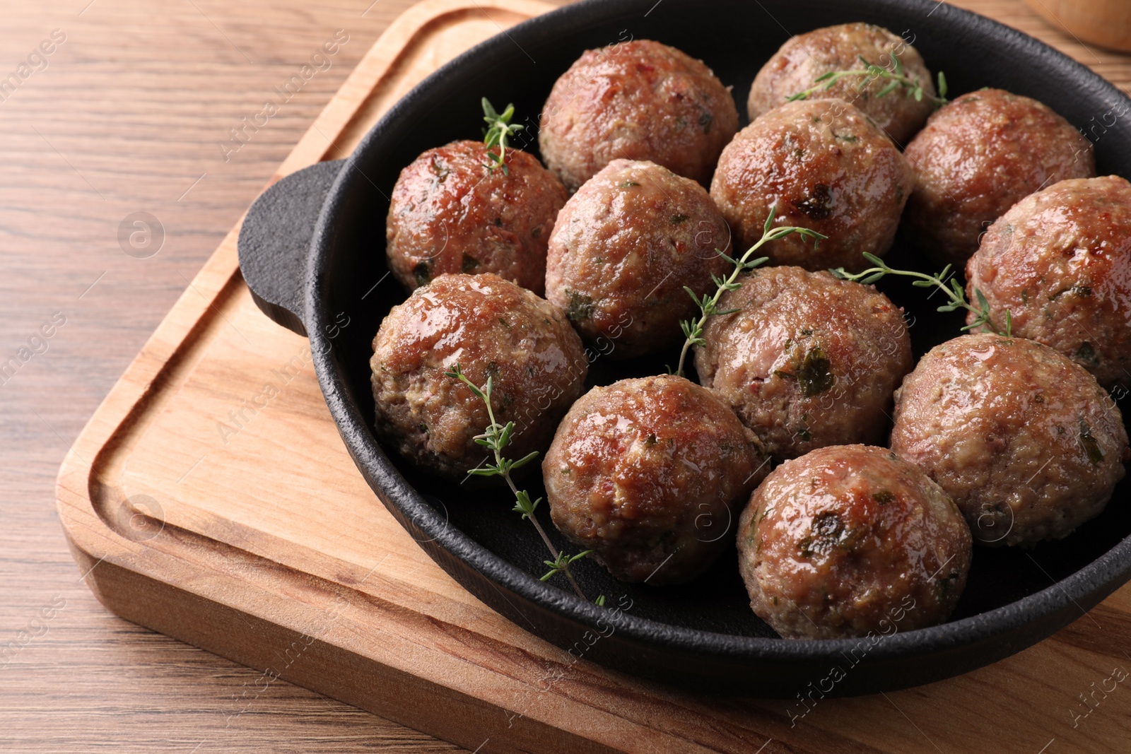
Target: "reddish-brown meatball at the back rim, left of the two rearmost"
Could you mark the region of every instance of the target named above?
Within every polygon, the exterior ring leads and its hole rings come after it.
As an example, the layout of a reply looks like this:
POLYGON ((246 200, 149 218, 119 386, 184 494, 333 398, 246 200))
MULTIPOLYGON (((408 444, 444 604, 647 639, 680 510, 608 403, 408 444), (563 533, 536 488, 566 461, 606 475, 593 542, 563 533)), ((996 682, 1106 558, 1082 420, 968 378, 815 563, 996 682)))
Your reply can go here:
POLYGON ((706 185, 737 130, 731 90, 702 61, 637 40, 587 50, 558 79, 538 146, 570 191, 616 158, 659 163, 706 185))

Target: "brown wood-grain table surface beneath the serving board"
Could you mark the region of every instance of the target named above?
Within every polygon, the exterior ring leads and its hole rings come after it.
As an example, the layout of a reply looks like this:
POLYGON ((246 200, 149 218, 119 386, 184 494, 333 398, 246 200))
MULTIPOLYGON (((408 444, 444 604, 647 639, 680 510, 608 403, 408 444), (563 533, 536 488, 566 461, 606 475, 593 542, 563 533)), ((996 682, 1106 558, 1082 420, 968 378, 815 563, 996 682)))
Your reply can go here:
MULTIPOLYGON (((260 674, 104 609, 67 551, 53 492, 98 401, 349 69, 412 3, 5 3, 0 78, 23 80, 0 89, 0 363, 19 362, 0 373, 0 751, 460 751, 284 682, 225 727, 233 695, 260 674), (302 90, 235 149, 230 130, 336 35, 348 41, 316 59, 302 90), (135 213, 155 217, 163 236, 141 259, 120 241, 135 213)), ((1045 26, 1021 0, 958 5, 1051 42, 1131 92, 1131 57, 1045 26)), ((1131 696, 1095 712, 1129 713, 1131 696)), ((1073 749, 1060 742, 1056 751, 1073 749)))

